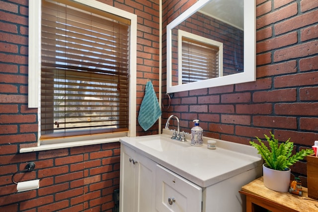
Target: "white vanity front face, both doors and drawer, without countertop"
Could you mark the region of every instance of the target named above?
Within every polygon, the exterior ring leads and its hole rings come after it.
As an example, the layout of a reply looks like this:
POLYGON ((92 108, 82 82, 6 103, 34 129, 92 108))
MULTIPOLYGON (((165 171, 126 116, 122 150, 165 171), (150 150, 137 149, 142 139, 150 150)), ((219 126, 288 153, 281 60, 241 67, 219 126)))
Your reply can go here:
POLYGON ((121 144, 120 212, 201 212, 202 189, 121 144))

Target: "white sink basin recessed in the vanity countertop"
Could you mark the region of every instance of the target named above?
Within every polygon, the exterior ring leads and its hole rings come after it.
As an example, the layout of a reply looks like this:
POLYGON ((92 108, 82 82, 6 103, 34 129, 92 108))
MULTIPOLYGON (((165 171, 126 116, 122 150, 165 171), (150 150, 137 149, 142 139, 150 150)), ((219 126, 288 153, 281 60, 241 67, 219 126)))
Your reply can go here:
POLYGON ((176 141, 160 136, 152 139, 139 139, 138 143, 148 146, 157 151, 173 151, 184 147, 190 147, 190 142, 176 141))

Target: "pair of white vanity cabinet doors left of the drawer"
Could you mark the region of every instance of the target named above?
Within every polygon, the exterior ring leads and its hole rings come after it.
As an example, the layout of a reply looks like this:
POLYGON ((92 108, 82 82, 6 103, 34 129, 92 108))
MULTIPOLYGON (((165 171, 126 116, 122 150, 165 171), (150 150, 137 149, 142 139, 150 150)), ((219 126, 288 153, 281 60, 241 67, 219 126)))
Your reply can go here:
POLYGON ((154 212, 156 163, 121 144, 120 212, 154 212))

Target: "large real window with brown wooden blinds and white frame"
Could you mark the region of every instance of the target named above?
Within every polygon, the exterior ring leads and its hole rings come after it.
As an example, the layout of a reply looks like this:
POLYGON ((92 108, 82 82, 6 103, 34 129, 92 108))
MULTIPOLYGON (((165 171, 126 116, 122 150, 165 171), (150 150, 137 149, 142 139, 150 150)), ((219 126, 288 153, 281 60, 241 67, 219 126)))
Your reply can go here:
POLYGON ((29 55, 41 55, 41 66, 29 57, 29 107, 39 108, 39 144, 136 134, 136 15, 76 1, 84 3, 29 4, 30 14, 41 15, 29 17, 29 55))

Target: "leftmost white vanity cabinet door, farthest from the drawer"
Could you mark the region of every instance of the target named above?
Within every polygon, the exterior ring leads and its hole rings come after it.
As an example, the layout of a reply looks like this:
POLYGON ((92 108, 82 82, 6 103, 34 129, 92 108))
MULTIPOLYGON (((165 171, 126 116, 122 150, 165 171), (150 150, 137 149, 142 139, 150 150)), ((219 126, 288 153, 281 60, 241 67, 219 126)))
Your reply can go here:
POLYGON ((135 151, 123 144, 120 145, 120 196, 119 211, 134 212, 137 207, 135 198, 135 170, 136 166, 132 162, 135 158, 135 151))

